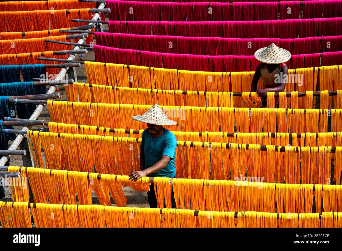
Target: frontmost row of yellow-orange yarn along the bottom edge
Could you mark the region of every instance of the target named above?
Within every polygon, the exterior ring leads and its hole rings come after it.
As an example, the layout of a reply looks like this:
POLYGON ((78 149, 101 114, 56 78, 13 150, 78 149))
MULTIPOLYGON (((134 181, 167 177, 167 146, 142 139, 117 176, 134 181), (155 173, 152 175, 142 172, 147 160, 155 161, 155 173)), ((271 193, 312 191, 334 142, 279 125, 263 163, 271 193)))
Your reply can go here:
POLYGON ((0 201, 3 227, 341 227, 342 213, 277 213, 56 205, 0 201), (30 208, 28 208, 28 206, 30 208), (50 217, 53 213, 54 217, 50 217), (20 217, 15 217, 20 215, 20 217), (277 224, 278 223, 278 224, 277 224))

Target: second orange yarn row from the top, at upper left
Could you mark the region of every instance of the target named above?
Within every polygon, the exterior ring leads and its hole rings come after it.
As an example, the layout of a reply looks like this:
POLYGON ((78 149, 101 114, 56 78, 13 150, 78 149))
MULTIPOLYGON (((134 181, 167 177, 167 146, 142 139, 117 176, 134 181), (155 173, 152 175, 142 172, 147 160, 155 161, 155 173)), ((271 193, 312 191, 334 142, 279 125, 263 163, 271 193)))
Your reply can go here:
POLYGON ((71 27, 70 19, 91 19, 89 9, 0 12, 0 31, 39 31, 71 27), (26 22, 23 22, 26 20, 26 22))

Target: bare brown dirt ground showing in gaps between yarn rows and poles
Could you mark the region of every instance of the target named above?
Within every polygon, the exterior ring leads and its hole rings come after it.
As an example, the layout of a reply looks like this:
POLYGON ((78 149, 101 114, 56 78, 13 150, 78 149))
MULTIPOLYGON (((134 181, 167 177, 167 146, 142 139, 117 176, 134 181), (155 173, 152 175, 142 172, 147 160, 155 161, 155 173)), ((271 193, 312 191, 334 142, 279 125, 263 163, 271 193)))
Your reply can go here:
MULTIPOLYGON (((108 25, 104 25, 104 30, 107 30, 107 29, 108 29, 108 25)), ((80 57, 80 54, 78 54, 75 60, 91 60, 91 61, 95 60, 94 52, 88 52, 83 55, 84 57, 80 57)), ((77 74, 78 82, 87 83, 87 76, 86 76, 84 65, 81 64, 81 67, 76 68, 76 74, 77 74)), ((56 100, 66 101, 67 97, 66 97, 66 93, 65 93, 65 89, 63 85, 58 86, 58 88, 60 89, 58 93, 61 94, 61 98, 56 99, 56 100)), ((43 131, 49 131, 48 123, 50 122, 50 117, 49 117, 49 111, 48 111, 47 106, 44 107, 43 111, 38 117, 38 120, 44 120, 45 125, 32 126, 31 130, 43 129, 43 131)), ((14 129, 21 129, 21 127, 15 127, 14 129)), ((9 142, 9 144, 11 143, 12 142, 9 142)), ((20 149, 18 148, 18 150, 20 149)), ((11 166, 23 166, 22 157, 12 156, 10 159, 10 165, 11 166)), ((6 192, 6 197, 2 198, 0 201, 12 201, 11 189, 9 186, 5 186, 5 192, 6 192)), ((147 201, 147 192, 136 192, 133 189, 131 189, 131 187, 123 187, 123 192, 127 197, 128 207, 149 207, 148 201, 147 201)), ((93 201, 93 204, 99 204, 97 196, 94 192, 92 192, 92 201, 93 201)), ((113 199, 111 202, 113 206, 115 206, 113 199)))

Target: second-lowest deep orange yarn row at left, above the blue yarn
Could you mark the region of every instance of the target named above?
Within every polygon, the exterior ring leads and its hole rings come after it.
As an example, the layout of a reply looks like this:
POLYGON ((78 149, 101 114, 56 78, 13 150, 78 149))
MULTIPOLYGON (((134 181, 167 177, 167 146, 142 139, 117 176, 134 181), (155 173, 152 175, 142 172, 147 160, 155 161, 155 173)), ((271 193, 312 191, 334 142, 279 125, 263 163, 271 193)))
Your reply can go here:
POLYGON ((0 54, 71 50, 71 45, 45 42, 45 39, 66 42, 65 37, 66 36, 0 40, 0 54))

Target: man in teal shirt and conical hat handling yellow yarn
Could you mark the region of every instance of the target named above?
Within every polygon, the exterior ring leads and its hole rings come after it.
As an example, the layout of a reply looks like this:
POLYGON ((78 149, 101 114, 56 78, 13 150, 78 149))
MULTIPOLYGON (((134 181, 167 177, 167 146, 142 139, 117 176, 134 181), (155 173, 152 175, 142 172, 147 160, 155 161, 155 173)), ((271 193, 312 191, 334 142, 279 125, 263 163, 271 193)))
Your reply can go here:
MULTIPOLYGON (((177 139, 163 125, 175 125, 176 122, 169 120, 157 104, 143 115, 133 116, 133 119, 147 123, 147 129, 143 131, 141 137, 140 171, 131 173, 130 179, 136 181, 145 176, 174 178, 177 139)), ((150 185, 147 197, 150 208, 157 208, 153 184, 150 185)), ((172 208, 176 208, 173 190, 171 191, 171 204, 172 208)))

